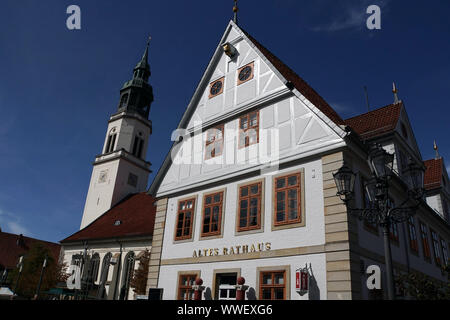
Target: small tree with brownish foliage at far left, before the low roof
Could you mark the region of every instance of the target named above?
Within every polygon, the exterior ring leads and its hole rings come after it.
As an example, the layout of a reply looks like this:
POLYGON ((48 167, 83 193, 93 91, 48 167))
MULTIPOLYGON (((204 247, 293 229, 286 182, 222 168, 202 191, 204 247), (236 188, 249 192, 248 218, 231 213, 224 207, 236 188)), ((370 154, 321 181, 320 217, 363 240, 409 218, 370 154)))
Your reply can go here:
MULTIPOLYGON (((58 282, 64 282, 67 279, 67 266, 64 263, 55 261, 49 248, 35 243, 23 258, 22 274, 20 282, 16 289, 16 294, 25 298, 31 298, 36 293, 41 275, 42 264, 47 256, 47 266, 41 283, 41 292, 55 287, 58 282)), ((8 278, 12 289, 16 286, 18 268, 10 272, 8 278)))

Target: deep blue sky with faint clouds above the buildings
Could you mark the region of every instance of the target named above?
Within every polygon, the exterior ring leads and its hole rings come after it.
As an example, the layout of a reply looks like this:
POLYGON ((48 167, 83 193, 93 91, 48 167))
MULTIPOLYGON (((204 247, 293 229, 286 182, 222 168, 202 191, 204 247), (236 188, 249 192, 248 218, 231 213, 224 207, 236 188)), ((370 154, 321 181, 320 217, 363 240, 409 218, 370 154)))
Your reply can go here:
MULTIPOLYGON (((154 173, 232 18, 232 0, 2 0, 0 227, 49 241, 77 231, 92 162, 119 89, 152 36, 154 173), (66 8, 81 8, 81 30, 66 8)), ((240 25, 344 118, 393 101, 392 81, 424 158, 450 153, 450 2, 241 0, 240 25), (366 8, 382 8, 368 30, 366 8)), ((450 156, 450 155, 449 155, 450 156)), ((450 164, 450 160, 447 164, 450 164)))

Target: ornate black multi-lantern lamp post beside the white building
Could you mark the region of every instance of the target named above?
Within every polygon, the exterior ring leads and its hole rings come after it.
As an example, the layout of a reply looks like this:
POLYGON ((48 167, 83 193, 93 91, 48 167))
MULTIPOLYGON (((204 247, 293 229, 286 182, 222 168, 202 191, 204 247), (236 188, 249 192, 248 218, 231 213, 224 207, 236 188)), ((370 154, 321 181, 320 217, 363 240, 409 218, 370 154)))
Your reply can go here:
POLYGON ((414 215, 420 200, 423 197, 423 168, 409 159, 408 167, 404 172, 408 192, 406 200, 394 207, 389 198, 389 185, 393 177, 394 155, 387 153, 379 144, 372 145, 369 150, 368 164, 372 171, 371 179, 364 185, 367 192, 369 208, 353 208, 350 201, 354 198, 356 174, 345 164, 333 174, 337 195, 344 201, 347 211, 371 224, 378 224, 383 228, 384 255, 387 271, 388 298, 395 299, 395 283, 392 264, 390 227, 393 224, 406 221, 414 215), (413 206, 407 206, 415 201, 413 206))

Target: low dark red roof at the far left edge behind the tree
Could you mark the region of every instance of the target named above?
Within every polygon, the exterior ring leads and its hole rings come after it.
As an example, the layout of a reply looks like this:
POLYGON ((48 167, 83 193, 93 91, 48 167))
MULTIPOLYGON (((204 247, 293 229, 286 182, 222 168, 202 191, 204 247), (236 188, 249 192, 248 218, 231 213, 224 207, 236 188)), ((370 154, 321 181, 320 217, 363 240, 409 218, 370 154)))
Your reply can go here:
POLYGON ((47 247, 55 261, 59 260, 61 245, 57 243, 0 231, 0 266, 6 269, 15 268, 19 257, 26 254, 34 244, 47 247))

